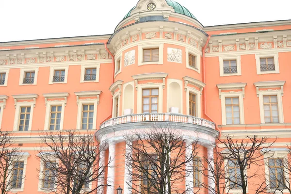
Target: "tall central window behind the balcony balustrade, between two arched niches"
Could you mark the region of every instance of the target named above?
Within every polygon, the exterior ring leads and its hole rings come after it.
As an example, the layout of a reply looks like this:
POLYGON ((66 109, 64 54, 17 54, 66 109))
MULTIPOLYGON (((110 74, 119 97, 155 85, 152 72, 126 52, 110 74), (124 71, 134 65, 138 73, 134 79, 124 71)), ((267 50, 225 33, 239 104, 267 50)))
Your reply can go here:
POLYGON ((143 113, 158 113, 159 89, 143 89, 143 113))

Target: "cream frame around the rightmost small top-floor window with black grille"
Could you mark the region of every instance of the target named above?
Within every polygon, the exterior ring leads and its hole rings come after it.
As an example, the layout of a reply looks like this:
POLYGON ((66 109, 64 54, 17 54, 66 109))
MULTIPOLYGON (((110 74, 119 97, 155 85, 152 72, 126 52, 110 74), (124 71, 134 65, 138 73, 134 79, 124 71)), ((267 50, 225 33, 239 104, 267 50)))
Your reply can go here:
POLYGON ((259 53, 259 54, 256 54, 255 57, 256 57, 257 75, 280 73, 278 53, 259 53), (275 71, 261 71, 260 70, 260 58, 265 58, 265 57, 274 57, 275 71))

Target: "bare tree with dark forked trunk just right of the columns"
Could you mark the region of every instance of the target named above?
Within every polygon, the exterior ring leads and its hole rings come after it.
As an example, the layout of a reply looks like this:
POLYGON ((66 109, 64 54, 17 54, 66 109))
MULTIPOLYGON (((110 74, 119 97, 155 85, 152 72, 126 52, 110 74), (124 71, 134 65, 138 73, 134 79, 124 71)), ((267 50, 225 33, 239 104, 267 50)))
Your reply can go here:
POLYGON ((260 173, 260 167, 264 166, 264 159, 266 159, 264 155, 270 152, 269 148, 274 142, 268 143, 268 138, 257 136, 234 140, 233 137, 226 135, 225 138, 218 139, 218 149, 222 150, 219 154, 223 155, 227 165, 225 177, 228 190, 241 189, 242 194, 246 194, 248 179, 259 178, 261 183, 253 185, 256 188, 256 194, 265 192, 268 185, 264 173, 260 173), (249 171, 253 165, 257 167, 255 172, 249 171))

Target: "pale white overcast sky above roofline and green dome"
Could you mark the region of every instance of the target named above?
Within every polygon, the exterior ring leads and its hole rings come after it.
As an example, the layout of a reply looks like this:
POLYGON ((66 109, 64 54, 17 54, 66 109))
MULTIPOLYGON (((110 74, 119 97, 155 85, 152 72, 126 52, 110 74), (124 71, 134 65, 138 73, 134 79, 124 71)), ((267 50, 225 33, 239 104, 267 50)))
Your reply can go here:
MULTIPOLYGON (((291 19, 291 0, 176 0, 204 26, 291 19)), ((0 0, 0 42, 111 34, 138 0, 0 0)))

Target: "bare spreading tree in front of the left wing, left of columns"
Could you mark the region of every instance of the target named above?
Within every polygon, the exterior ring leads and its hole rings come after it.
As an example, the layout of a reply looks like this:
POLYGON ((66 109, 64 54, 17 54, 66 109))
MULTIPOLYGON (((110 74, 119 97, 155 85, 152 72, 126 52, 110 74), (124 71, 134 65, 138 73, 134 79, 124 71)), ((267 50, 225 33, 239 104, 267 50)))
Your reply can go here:
POLYGON ((97 143, 93 134, 50 131, 41 139, 43 146, 37 157, 42 163, 38 170, 42 189, 58 194, 90 194, 107 186, 97 185, 97 180, 104 179, 105 168, 110 163, 110 159, 107 163, 99 162, 106 144, 97 143))

